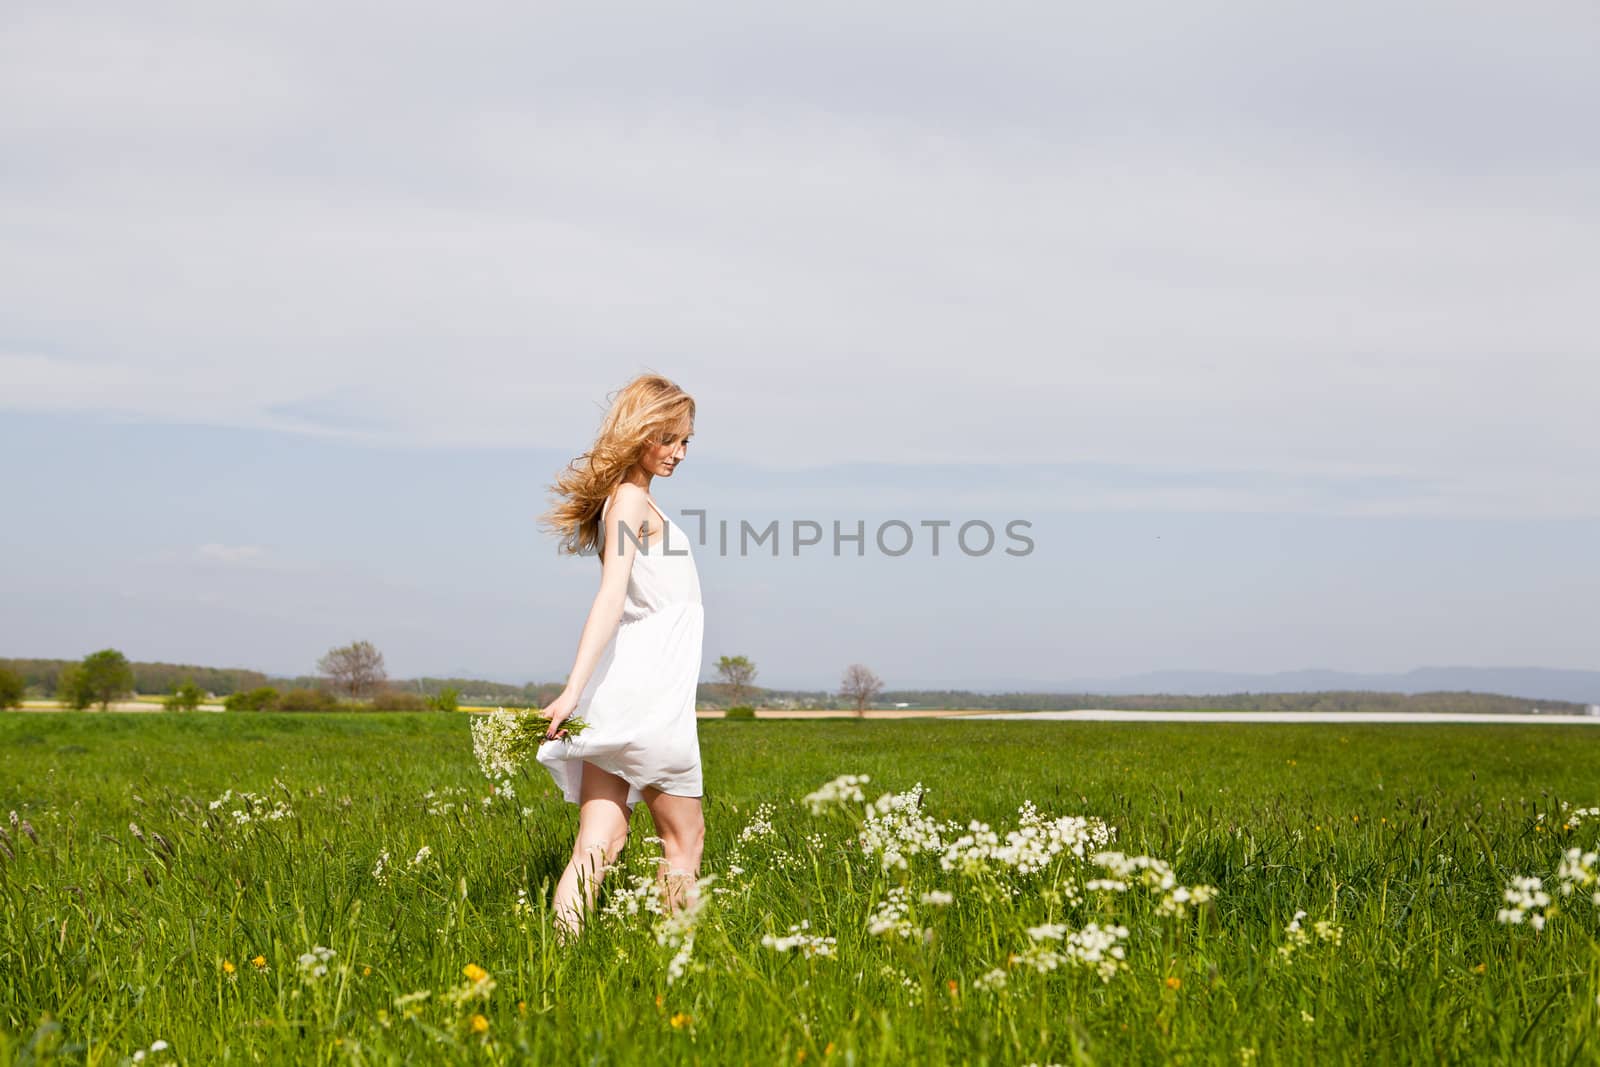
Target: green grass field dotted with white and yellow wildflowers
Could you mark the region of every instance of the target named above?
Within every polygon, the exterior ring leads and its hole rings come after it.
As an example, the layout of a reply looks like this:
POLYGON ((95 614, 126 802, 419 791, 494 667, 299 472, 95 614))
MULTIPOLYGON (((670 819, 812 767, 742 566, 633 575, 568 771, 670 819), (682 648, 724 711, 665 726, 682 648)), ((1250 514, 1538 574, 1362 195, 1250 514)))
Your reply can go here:
POLYGON ((467 728, 0 715, 0 1056, 1600 1062, 1595 886, 1555 877, 1600 838, 1590 731, 707 720, 699 913, 632 891, 640 806, 560 950, 576 808, 539 768, 496 795, 467 728), (866 805, 802 803, 846 773, 901 797, 888 864, 866 805), (1498 921, 1523 875, 1542 929, 1498 921))

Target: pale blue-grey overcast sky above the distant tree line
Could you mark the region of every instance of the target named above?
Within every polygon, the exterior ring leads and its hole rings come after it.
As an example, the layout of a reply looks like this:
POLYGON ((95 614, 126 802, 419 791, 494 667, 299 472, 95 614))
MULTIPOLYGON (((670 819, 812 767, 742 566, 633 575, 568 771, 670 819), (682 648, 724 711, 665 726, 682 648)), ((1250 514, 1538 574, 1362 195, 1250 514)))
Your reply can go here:
POLYGON ((680 523, 869 530, 694 545, 707 678, 1595 667, 1597 54, 1587 2, 10 3, 0 654, 558 680, 598 565, 531 520, 653 370, 680 523))

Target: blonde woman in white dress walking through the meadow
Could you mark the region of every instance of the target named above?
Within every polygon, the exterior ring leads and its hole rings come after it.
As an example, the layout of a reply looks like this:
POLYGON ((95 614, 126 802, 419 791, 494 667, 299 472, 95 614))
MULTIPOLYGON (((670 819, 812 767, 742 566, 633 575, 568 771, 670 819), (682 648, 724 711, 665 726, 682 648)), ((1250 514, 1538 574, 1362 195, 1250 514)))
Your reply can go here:
POLYGON ((566 688, 544 709, 549 741, 539 745, 539 763, 578 805, 578 841, 552 902, 563 939, 582 929, 640 798, 661 835, 664 905, 696 899, 706 821, 694 689, 706 614, 690 537, 650 494, 651 478, 683 462, 693 432, 694 398, 642 374, 613 398, 594 448, 550 486, 565 498, 547 517, 563 550, 600 553, 600 592, 566 688), (562 729, 570 717, 587 726, 562 729))

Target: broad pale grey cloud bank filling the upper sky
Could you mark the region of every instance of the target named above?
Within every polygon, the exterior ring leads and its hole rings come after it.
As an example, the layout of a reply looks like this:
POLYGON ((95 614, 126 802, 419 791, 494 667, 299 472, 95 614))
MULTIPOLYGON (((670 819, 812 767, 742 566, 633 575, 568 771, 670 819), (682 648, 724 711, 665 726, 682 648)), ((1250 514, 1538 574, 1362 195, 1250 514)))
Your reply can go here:
POLYGON ((1581 6, 474 10, 29 10, 0 406, 1600 515, 1581 6))

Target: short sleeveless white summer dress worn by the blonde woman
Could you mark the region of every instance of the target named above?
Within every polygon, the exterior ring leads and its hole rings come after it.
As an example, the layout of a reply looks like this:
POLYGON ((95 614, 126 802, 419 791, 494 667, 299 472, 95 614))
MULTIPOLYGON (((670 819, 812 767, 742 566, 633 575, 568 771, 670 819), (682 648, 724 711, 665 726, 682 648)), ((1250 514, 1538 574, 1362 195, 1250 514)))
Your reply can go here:
MULTIPOLYGON (((600 510, 605 545, 608 499, 600 510)), ((661 510, 651 509, 656 515, 661 510)), ((616 635, 578 697, 578 734, 539 745, 539 763, 562 795, 579 803, 584 760, 627 781, 627 806, 654 785, 677 797, 702 797, 694 689, 699 685, 706 609, 690 536, 661 515, 664 533, 640 542, 627 576, 616 635)))

